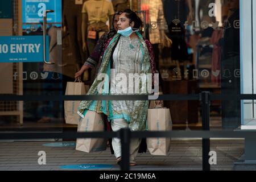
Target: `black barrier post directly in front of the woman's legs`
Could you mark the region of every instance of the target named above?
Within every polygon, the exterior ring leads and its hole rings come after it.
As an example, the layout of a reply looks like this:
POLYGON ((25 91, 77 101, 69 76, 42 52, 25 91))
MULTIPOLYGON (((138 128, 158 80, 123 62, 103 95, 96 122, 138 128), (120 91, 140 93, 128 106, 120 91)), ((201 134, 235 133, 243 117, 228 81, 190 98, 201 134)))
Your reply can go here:
POLYGON ((121 154, 122 154, 122 163, 121 163, 121 170, 122 171, 129 171, 130 170, 130 137, 131 131, 129 128, 123 128, 119 130, 119 136, 121 139, 121 154))

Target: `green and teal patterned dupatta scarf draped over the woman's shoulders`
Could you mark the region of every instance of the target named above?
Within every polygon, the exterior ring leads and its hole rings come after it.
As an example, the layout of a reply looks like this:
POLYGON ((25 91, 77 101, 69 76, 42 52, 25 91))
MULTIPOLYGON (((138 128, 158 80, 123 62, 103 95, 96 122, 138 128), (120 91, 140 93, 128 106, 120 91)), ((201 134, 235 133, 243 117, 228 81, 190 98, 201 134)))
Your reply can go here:
MULTIPOLYGON (((139 38, 140 48, 142 50, 142 70, 141 74, 148 74, 151 73, 150 68, 150 56, 148 54, 147 45, 144 42, 144 39, 142 35, 139 32, 136 32, 139 38)), ((117 44, 119 40, 119 34, 115 35, 114 38, 110 41, 108 47, 106 48, 106 51, 104 53, 104 56, 102 58, 102 64, 98 72, 98 76, 101 73, 105 73, 110 78, 110 64, 112 62, 112 50, 115 47, 115 44, 117 44)), ((151 80, 148 80, 148 82, 151 80)), ((141 82, 142 83, 142 82, 141 82)), ((141 90, 146 89, 144 88, 146 85, 139 84, 139 93, 142 94, 141 90)), ((90 87, 88 93, 86 95, 106 95, 110 94, 109 92, 109 80, 104 79, 104 81, 94 80, 92 86, 90 87), (104 85, 104 86, 103 86, 104 85), (100 92, 98 92, 98 88, 100 89, 100 92)), ((145 93, 143 93, 145 94, 145 93)), ((147 94, 149 94, 147 92, 147 94)), ((132 131, 144 131, 146 130, 146 120, 147 120, 147 110, 148 110, 148 103, 149 101, 135 101, 134 102, 134 109, 130 116, 130 122, 129 122, 129 128, 132 131)), ((96 111, 97 113, 104 113, 106 115, 110 115, 109 111, 109 105, 110 101, 81 101, 77 113, 84 118, 84 115, 86 114, 87 110, 96 111)))

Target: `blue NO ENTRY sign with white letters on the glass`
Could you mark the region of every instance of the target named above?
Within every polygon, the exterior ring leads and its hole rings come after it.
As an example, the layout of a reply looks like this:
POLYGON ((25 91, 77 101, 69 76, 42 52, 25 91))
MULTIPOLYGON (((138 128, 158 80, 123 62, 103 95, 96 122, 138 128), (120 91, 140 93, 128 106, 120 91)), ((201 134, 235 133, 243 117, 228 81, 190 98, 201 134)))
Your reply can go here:
MULTIPOLYGON (((49 37, 46 38, 49 60, 49 37)), ((42 62, 43 36, 0 36, 0 63, 42 62)))

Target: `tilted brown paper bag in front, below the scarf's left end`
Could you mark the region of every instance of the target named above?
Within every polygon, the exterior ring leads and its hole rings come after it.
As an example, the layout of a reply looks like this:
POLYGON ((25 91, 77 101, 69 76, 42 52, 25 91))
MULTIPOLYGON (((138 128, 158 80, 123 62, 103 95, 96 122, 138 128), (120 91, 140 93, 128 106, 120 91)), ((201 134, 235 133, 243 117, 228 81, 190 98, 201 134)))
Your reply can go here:
MULTIPOLYGON (((77 132, 104 131, 104 118, 102 114, 88 110, 85 117, 79 122, 77 132)), ((105 138, 77 138, 76 150, 94 152, 106 150, 107 139, 105 138)))

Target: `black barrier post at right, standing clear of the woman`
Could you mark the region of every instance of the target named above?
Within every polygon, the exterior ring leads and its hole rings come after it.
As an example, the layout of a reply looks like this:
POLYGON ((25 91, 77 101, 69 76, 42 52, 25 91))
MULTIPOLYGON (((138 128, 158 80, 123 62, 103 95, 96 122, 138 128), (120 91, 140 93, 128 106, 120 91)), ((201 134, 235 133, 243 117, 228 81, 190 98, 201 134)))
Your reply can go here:
MULTIPOLYGON (((202 125, 203 130, 210 130, 210 93, 201 93, 202 104, 202 125)), ((210 152, 210 139, 202 139, 202 158, 203 158, 203 171, 210 171, 209 152, 210 152)))

